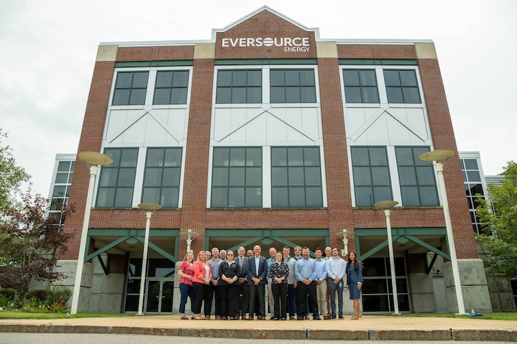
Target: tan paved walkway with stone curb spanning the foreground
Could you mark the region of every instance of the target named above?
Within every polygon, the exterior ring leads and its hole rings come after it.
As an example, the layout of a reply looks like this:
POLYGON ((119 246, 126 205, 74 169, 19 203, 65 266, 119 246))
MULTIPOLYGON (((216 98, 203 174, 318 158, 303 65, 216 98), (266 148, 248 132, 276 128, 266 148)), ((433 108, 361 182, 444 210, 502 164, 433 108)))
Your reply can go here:
POLYGON ((181 320, 179 315, 0 320, 0 332, 113 333, 241 339, 514 341, 517 321, 364 316, 360 320, 181 320))

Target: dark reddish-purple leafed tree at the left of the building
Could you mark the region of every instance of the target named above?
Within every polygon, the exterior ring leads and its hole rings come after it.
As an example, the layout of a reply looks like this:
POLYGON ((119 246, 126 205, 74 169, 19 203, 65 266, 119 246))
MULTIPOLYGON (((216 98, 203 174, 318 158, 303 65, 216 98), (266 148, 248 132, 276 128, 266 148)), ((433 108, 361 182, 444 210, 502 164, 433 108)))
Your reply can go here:
POLYGON ((63 274, 53 271, 58 250, 71 236, 60 223, 73 211, 63 207, 45 217, 47 199, 30 190, 17 205, 3 205, 0 222, 0 287, 16 288, 23 299, 30 282, 54 282, 63 274))

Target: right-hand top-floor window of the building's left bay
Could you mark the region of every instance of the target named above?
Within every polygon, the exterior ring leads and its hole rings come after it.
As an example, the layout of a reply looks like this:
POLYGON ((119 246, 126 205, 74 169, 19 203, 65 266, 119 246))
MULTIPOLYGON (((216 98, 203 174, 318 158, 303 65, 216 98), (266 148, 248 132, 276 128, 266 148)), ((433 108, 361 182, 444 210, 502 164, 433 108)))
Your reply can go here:
POLYGON ((186 104, 188 71, 158 71, 153 104, 186 104))

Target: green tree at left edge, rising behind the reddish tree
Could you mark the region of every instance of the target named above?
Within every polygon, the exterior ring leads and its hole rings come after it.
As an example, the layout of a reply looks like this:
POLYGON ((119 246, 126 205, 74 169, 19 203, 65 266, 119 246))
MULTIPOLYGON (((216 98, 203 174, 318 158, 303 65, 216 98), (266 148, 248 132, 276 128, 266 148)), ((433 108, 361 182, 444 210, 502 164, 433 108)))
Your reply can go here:
POLYGON ((21 183, 30 181, 30 175, 17 165, 12 148, 3 146, 3 138, 7 138, 7 134, 0 128, 0 207, 14 203, 21 183))

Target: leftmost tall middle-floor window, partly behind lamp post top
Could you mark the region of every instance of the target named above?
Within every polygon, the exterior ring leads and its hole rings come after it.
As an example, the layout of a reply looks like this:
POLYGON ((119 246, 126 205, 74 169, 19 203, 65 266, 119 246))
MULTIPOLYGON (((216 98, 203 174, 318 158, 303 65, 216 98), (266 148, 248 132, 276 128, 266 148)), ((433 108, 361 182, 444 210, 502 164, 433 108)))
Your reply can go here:
POLYGON ((106 148, 104 154, 113 163, 100 169, 97 207, 131 207, 138 148, 106 148))

